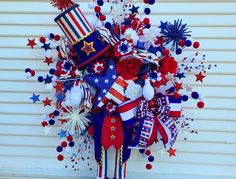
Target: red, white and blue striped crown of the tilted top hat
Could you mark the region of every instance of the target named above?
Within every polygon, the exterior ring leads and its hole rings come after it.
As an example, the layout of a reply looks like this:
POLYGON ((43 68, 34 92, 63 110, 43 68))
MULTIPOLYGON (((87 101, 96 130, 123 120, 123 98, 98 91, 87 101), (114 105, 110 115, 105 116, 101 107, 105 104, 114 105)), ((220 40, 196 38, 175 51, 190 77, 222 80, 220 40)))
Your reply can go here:
POLYGON ((72 44, 78 43, 94 31, 78 4, 57 16, 55 22, 72 44))

